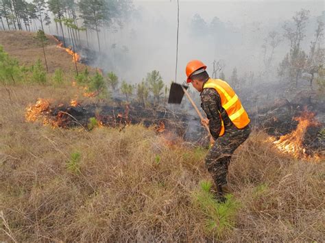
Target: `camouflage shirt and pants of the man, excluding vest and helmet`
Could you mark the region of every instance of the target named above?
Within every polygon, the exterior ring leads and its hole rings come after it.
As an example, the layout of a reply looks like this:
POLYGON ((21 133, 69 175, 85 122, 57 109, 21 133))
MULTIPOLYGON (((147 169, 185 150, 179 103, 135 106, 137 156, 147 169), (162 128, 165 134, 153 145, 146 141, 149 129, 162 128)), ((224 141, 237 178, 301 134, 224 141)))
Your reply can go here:
POLYGON ((209 119, 210 133, 215 144, 206 156, 206 167, 215 181, 219 195, 225 194, 228 174, 228 164, 232 153, 250 135, 250 127, 238 129, 230 120, 226 110, 221 106, 221 97, 214 88, 204 88, 200 94, 201 107, 209 119), (224 135, 219 137, 222 120, 224 122, 224 135))

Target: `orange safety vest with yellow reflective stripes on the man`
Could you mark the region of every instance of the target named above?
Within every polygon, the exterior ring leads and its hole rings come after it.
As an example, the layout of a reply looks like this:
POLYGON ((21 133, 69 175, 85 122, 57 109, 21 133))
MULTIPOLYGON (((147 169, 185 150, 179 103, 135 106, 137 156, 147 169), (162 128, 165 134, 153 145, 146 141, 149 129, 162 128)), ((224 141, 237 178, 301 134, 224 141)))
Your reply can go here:
MULTIPOLYGON (((243 105, 237 94, 232 90, 229 84, 221 79, 208 79, 203 88, 214 88, 221 98, 221 106, 226 110, 230 120, 238 129, 246 127, 250 123, 250 118, 244 110, 243 105)), ((221 118, 221 130, 219 136, 225 133, 224 120, 221 118)))

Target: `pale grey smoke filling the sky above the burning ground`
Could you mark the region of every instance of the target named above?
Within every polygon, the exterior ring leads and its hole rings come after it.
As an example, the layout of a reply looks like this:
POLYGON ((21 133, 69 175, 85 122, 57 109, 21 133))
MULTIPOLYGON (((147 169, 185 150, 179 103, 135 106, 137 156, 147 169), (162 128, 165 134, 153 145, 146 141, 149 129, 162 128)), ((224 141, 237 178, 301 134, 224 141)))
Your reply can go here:
MULTIPOLYGON (((160 71, 166 84, 175 79, 176 66, 176 1, 134 1, 135 12, 122 29, 101 33, 104 51, 93 66, 114 71, 121 79, 134 84, 147 73, 160 71)), ((302 8, 311 11, 303 47, 309 49, 313 38, 315 16, 322 15, 322 1, 180 1, 180 39, 178 81, 184 81, 184 68, 192 59, 199 59, 213 73, 213 61, 224 62, 226 79, 237 67, 239 76, 265 69, 262 44, 270 31, 282 36, 282 24, 302 8), (193 24, 198 14, 202 25, 193 24), (219 18, 217 29, 211 29, 213 18, 219 18)), ((200 22, 200 21, 199 21, 200 22)), ((93 35, 95 36, 95 35, 93 35)), ((91 47, 97 48, 95 38, 91 47)), ((274 51, 272 67, 276 66, 289 43, 282 40, 274 51)), ((276 73, 271 80, 276 80, 276 73)))

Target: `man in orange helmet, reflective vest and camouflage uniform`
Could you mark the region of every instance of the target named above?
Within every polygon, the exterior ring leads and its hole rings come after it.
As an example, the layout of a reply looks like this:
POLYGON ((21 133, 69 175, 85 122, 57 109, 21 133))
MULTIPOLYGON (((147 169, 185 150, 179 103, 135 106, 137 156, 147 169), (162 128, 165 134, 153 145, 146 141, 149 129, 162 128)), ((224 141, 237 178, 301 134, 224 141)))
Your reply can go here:
POLYGON ((229 84, 221 79, 211 79, 203 62, 189 62, 186 76, 187 83, 201 93, 201 107, 207 116, 202 123, 209 126, 215 139, 206 156, 206 167, 215 181, 217 199, 224 201, 224 194, 229 192, 226 180, 228 164, 232 153, 250 135, 250 118, 229 84))

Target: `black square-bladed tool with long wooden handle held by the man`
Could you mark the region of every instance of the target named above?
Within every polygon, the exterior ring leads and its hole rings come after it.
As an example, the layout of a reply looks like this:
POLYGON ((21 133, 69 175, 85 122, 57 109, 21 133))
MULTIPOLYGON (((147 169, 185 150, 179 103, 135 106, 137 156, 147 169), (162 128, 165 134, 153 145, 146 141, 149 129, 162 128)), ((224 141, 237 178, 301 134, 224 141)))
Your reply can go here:
MULTIPOLYGON (((186 95, 187 99, 191 102, 193 105, 195 111, 199 115, 201 120, 204 120, 201 112, 199 109, 197 109, 197 106, 195 105, 193 99, 189 96, 189 92, 187 92, 187 88, 189 86, 184 86, 182 84, 177 84, 177 83, 171 83, 171 88, 169 90, 169 97, 168 97, 168 103, 173 103, 173 104, 180 104, 182 102, 182 98, 184 97, 184 94, 186 95)), ((215 142, 210 134, 210 129, 208 128, 208 125, 204 123, 204 127, 206 128, 206 131, 208 131, 210 135, 210 142, 215 142)))

